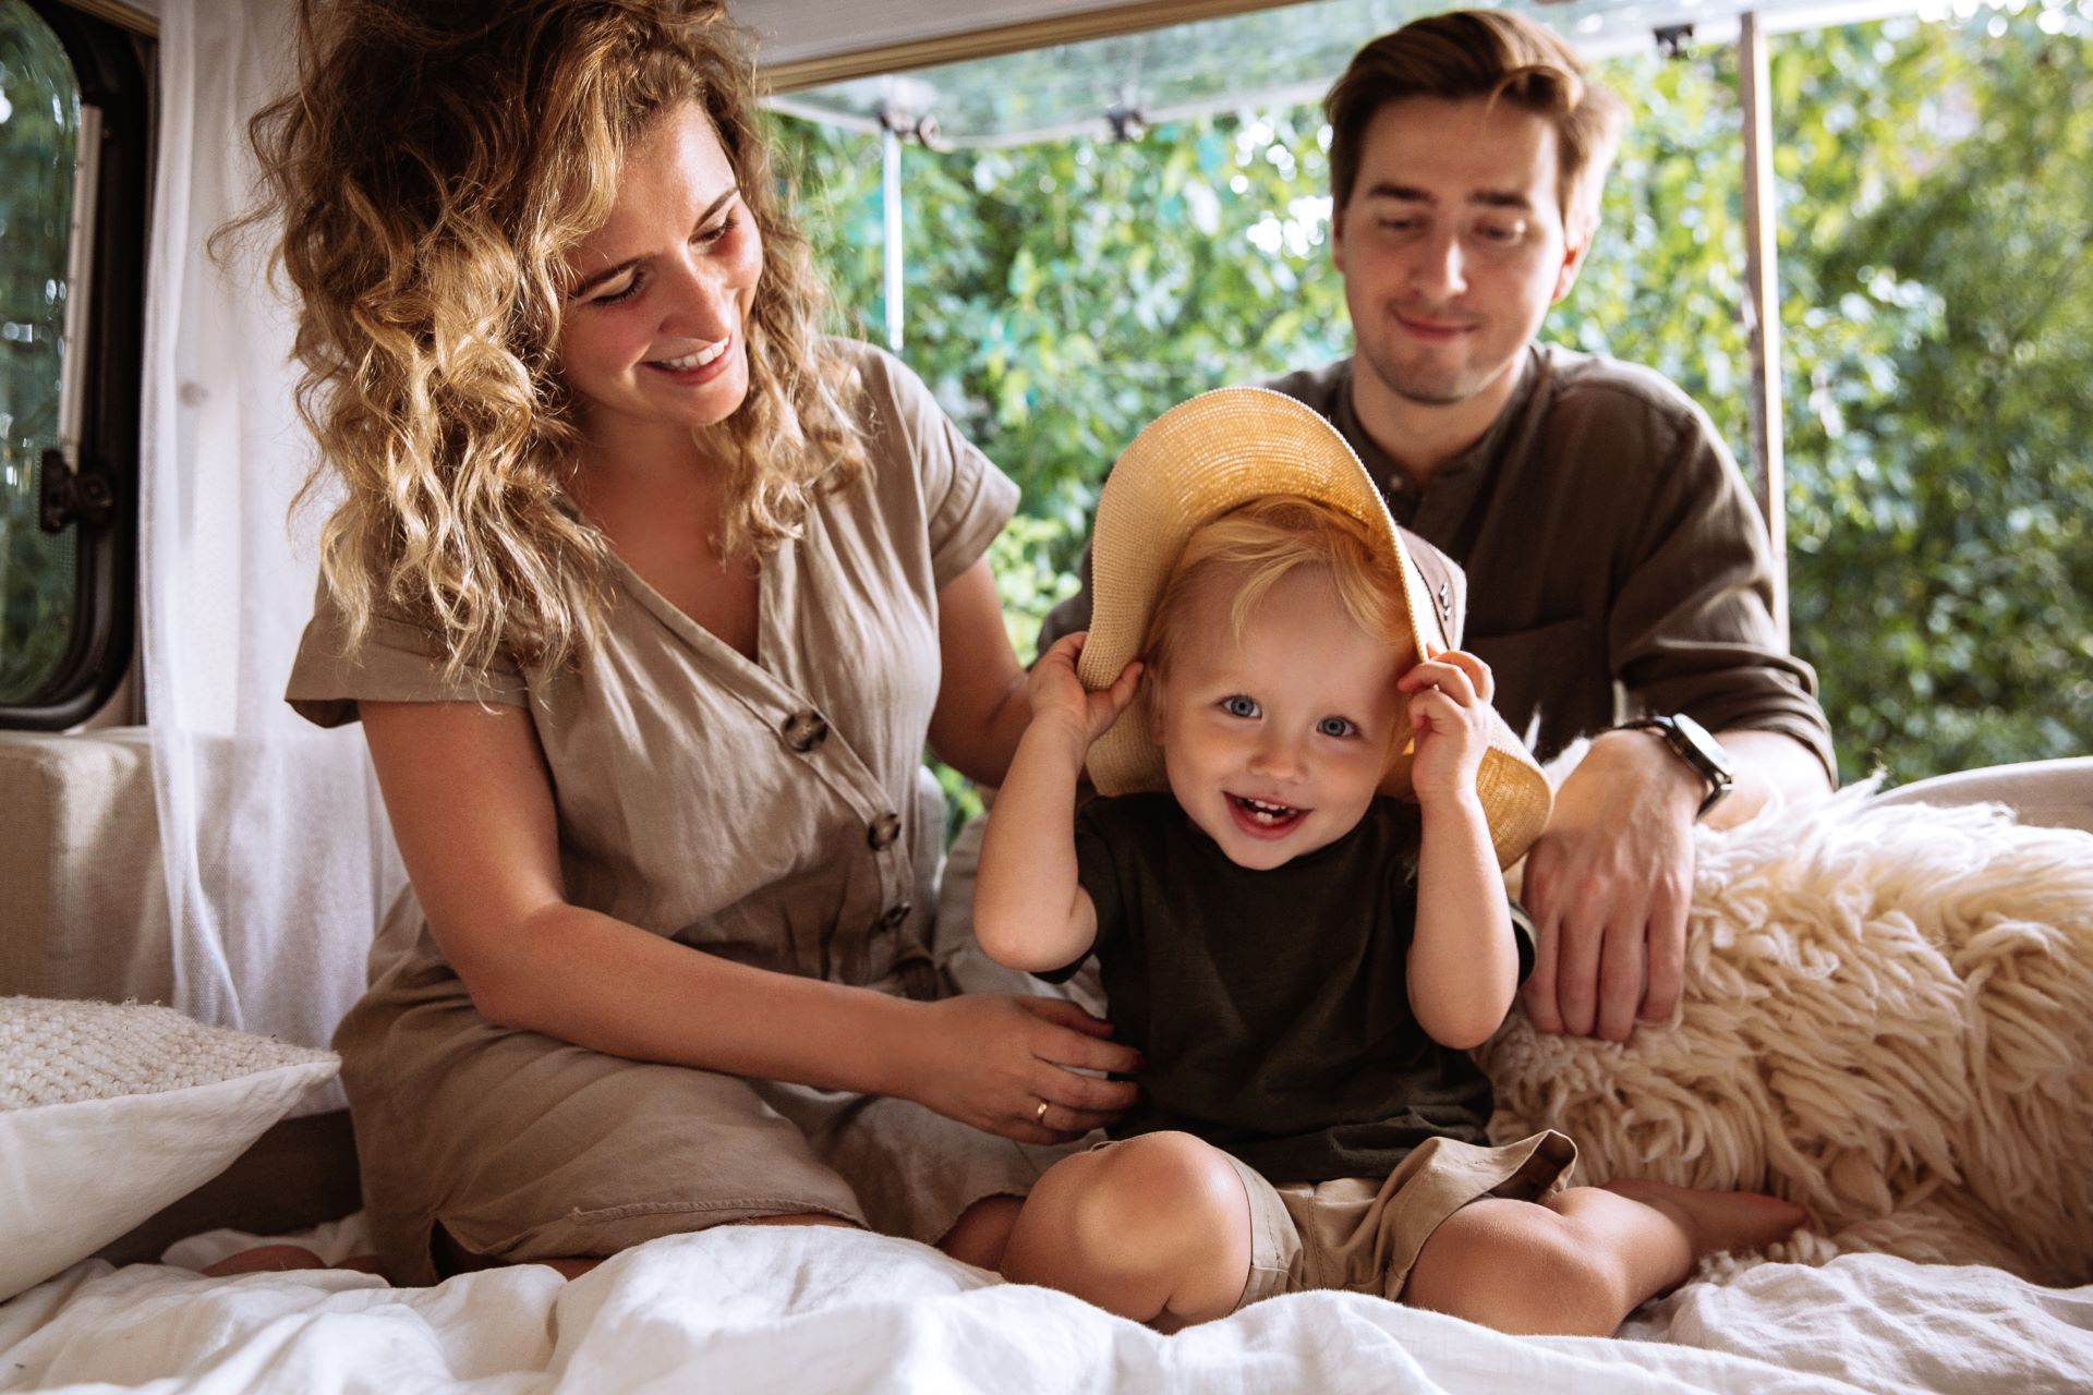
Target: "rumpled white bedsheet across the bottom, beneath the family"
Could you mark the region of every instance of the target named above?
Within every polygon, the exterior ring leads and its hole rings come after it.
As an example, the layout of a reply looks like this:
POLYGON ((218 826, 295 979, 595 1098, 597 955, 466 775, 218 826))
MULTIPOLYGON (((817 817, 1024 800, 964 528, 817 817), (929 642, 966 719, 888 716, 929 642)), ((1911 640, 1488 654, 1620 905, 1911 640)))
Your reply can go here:
POLYGON ((1687 1284, 1626 1332, 1513 1339, 1312 1293, 1160 1336, 906 1240, 724 1228, 571 1284, 540 1265, 389 1288, 88 1261, 0 1305, 0 1391, 2093 1391, 2093 1286, 1884 1255, 1687 1284))

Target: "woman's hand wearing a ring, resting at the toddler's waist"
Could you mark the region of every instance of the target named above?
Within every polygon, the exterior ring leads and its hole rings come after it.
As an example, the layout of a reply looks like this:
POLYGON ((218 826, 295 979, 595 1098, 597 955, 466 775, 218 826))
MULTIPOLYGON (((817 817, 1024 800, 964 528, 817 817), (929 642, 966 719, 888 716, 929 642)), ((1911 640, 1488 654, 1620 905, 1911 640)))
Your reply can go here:
POLYGON ((902 1098, 1021 1144, 1065 1144, 1134 1102, 1141 1052, 1107 1042, 1111 1023, 1061 998, 963 993, 919 1004, 902 1098), (1044 1115, 1040 1102, 1044 1100, 1044 1115))

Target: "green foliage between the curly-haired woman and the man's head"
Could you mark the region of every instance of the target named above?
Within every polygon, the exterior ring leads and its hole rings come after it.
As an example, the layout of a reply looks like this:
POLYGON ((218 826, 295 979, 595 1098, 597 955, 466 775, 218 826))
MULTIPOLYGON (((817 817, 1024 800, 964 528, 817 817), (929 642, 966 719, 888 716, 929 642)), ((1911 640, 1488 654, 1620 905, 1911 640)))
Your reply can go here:
MULTIPOLYGON (((783 125, 837 301, 883 339, 877 142, 783 125)), ((1038 527, 998 556, 1023 558, 1023 594, 1005 590, 1023 627, 1072 586, 1040 569, 1074 567, 1105 466, 1143 422, 1348 345, 1316 130, 1300 109, 1132 144, 904 153, 904 358, 1023 489, 1038 527), (1260 224, 1277 255, 1250 243, 1260 224)))

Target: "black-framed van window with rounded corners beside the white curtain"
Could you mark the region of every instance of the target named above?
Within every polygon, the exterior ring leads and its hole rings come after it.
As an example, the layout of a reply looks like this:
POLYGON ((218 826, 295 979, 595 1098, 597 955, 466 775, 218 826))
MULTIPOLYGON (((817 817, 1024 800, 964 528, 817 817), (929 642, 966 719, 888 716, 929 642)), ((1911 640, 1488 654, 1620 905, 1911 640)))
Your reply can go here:
POLYGON ((0 724, 130 661, 144 79, 134 40, 0 0, 0 724))

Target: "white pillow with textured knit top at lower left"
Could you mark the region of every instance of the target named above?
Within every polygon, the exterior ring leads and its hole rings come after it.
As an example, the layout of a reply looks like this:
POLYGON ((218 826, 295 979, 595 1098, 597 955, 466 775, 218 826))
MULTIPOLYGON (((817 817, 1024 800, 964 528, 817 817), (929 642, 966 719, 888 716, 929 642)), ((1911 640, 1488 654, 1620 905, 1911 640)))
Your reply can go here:
POLYGON ((0 998, 0 1301, 216 1177, 339 1069, 174 1008, 0 998))

